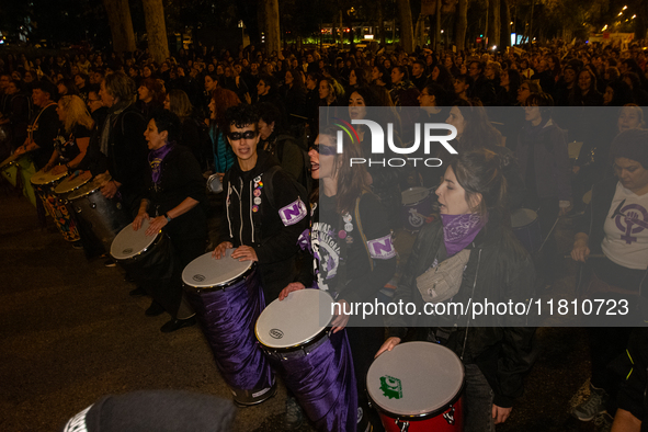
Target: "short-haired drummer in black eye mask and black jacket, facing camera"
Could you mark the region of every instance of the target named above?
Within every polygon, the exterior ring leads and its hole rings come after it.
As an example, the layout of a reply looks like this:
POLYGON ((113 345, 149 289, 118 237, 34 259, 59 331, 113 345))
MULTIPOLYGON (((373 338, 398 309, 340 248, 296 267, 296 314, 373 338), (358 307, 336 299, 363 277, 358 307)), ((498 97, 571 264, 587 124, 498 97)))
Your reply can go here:
POLYGON ((259 116, 248 105, 229 109, 228 140, 237 156, 224 178, 225 215, 220 243, 214 257, 225 257, 226 249, 237 248, 232 258, 257 261, 265 302, 296 275, 297 239, 308 228, 307 203, 276 159, 259 144, 259 116))

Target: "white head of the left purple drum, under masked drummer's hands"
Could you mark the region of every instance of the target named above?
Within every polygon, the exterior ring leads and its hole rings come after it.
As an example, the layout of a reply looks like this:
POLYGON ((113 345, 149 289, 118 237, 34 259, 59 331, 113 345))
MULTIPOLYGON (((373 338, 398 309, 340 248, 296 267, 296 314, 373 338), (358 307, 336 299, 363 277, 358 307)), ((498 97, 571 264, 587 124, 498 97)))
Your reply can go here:
POLYGON ((203 253, 184 268, 182 282, 196 288, 208 288, 236 280, 252 266, 253 261, 231 258, 235 250, 227 249, 219 260, 212 257, 212 252, 203 253))

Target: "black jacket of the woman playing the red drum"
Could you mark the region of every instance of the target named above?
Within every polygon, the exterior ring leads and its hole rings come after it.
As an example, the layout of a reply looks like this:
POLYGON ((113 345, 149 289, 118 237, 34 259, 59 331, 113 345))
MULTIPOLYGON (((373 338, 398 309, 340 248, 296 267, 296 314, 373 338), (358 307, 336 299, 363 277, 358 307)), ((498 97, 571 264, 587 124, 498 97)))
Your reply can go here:
MULTIPOLYGON (((473 303, 526 303, 534 292, 535 271, 528 253, 513 232, 497 224, 491 215, 485 228, 468 247, 470 259, 464 271, 462 285, 453 302, 473 303)), ((435 259, 445 260, 441 221, 425 225, 411 250, 394 302, 413 303, 422 311, 424 302, 417 288, 417 277, 431 268, 435 259)), ((435 321, 437 326, 440 320, 435 321)), ((394 315, 386 319, 388 334, 403 339, 408 327, 429 327, 425 315, 394 315)), ((446 345, 464 363, 477 364, 492 390, 494 403, 511 407, 513 399, 523 391, 522 378, 534 360, 533 337, 535 328, 525 327, 525 316, 502 317, 497 314, 482 316, 478 321, 471 316, 448 316, 443 328, 450 328, 446 345)), ((422 334, 427 338, 427 334, 422 334)))

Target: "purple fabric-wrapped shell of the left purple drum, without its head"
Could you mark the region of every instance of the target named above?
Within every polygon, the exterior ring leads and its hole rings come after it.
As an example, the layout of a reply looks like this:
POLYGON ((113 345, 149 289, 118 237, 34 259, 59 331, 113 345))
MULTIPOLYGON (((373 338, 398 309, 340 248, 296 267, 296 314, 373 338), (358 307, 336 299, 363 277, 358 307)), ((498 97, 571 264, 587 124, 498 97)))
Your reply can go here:
POLYGON ((184 288, 235 400, 254 405, 272 396, 274 376, 254 338, 254 323, 265 307, 254 269, 226 287, 200 288, 185 283, 184 288), (243 394, 251 397, 243 399, 243 394))

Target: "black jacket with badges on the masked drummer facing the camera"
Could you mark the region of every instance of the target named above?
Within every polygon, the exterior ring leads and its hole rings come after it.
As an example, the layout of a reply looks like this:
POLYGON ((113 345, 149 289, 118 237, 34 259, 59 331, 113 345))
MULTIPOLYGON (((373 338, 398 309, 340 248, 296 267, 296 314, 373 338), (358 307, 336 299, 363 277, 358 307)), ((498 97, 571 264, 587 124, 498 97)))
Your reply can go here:
POLYGON ((265 299, 270 303, 295 278, 297 239, 308 228, 309 217, 307 203, 302 202, 293 180, 281 169, 272 175, 270 187, 263 184, 260 189, 261 204, 253 212, 254 179, 266 183, 266 172, 278 164, 268 152, 259 150, 257 154, 252 170, 242 171, 237 160, 225 175, 220 242, 230 241, 235 248, 241 245, 254 248, 265 299), (272 190, 272 197, 269 190, 272 190))

